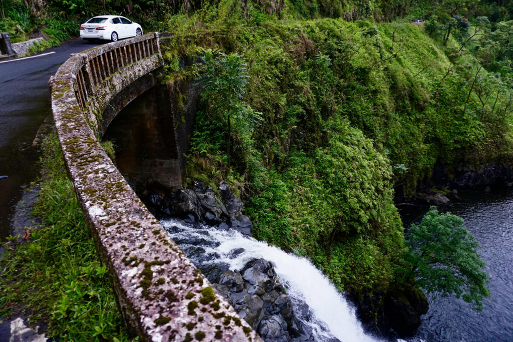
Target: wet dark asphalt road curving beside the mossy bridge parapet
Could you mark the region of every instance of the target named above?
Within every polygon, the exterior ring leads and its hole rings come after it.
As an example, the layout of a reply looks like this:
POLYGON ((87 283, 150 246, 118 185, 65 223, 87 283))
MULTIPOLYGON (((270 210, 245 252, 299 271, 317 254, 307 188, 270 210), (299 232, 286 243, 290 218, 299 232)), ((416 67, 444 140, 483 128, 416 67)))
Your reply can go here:
POLYGON ((71 53, 98 44, 72 39, 32 58, 0 63, 0 241, 10 234, 23 187, 37 174, 38 155, 31 145, 51 115, 48 79, 71 53))

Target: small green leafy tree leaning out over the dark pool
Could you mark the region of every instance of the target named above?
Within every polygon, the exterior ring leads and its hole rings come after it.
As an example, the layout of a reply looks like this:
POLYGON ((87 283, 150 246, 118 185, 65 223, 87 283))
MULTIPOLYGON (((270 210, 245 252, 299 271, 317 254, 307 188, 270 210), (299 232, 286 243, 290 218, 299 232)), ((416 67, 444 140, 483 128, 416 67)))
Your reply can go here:
POLYGON ((417 284, 428 293, 461 297, 481 311, 484 298, 490 296, 488 273, 477 252, 479 243, 463 226, 463 219, 431 207, 409 233, 406 259, 417 284))

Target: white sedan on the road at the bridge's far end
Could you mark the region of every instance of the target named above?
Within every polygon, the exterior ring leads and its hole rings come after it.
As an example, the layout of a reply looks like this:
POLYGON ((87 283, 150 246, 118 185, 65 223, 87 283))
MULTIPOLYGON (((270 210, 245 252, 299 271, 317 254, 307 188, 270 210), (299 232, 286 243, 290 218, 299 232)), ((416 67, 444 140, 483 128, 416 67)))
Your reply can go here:
POLYGON ((98 15, 80 25, 82 39, 107 39, 115 42, 120 38, 140 36, 143 34, 141 25, 124 16, 98 15))

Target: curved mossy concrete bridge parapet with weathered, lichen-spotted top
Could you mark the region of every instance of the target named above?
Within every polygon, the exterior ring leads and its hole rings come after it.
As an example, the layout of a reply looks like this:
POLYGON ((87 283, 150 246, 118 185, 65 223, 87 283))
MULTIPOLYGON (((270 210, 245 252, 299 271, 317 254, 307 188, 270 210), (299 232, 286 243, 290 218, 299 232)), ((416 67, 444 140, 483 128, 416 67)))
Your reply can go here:
POLYGON ((142 340, 260 340, 169 238, 98 142, 156 84, 158 33, 72 54, 50 78, 66 166, 128 329, 142 340))

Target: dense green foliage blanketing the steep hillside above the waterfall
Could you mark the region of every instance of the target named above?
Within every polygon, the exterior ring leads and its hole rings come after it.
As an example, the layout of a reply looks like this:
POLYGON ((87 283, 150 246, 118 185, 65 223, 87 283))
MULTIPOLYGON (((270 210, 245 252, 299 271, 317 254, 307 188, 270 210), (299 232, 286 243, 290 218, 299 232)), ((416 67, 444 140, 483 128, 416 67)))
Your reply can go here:
MULTIPOLYGON (((437 161, 510 163, 508 76, 483 68, 456 30, 430 37, 409 20, 276 20, 241 17, 244 10, 222 2, 169 21, 170 65, 209 49, 245 56, 240 100, 262 117, 245 145, 257 151, 251 165, 223 163, 226 142, 210 144, 217 150, 193 143, 189 177, 231 180, 254 236, 309 257, 340 289, 405 286, 396 274, 404 247, 392 186, 411 193, 437 161)), ((171 74, 198 72, 178 69, 171 74)), ((203 93, 194 133, 202 143, 227 136, 221 122, 203 124, 216 96, 203 93)), ((230 135, 232 152, 244 155, 238 139, 230 135)))

